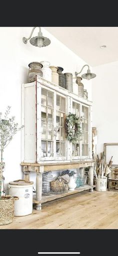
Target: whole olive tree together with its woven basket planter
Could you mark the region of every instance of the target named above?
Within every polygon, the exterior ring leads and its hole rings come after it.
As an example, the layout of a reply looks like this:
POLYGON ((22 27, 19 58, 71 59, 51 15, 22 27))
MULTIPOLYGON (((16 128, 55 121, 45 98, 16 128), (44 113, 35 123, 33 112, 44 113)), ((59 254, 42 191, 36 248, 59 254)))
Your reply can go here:
POLYGON ((0 225, 12 222, 14 217, 14 198, 10 196, 1 196, 3 182, 3 152, 8 146, 13 136, 22 129, 15 122, 15 117, 9 117, 10 106, 7 106, 4 115, 0 113, 0 225))

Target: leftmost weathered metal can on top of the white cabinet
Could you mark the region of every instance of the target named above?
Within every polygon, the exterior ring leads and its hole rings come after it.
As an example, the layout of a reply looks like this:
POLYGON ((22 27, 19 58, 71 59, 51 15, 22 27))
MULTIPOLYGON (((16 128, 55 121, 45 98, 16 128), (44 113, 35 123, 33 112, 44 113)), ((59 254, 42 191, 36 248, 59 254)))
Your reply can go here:
POLYGON ((41 68, 43 67, 40 62, 30 62, 28 64, 28 83, 35 81, 35 75, 42 77, 41 68))

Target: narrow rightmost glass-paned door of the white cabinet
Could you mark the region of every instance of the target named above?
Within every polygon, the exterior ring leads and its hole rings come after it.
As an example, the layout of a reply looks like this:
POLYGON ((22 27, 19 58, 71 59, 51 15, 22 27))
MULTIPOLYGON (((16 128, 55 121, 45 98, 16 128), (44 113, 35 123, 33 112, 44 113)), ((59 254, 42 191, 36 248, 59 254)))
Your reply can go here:
POLYGON ((88 157, 88 107, 82 105, 82 157, 88 157))

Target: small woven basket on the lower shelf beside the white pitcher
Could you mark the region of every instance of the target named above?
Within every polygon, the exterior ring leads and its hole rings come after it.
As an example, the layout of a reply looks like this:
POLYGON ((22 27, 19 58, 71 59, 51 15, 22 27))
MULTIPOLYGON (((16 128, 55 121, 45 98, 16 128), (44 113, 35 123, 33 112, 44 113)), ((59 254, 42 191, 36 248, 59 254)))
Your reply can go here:
POLYGON ((62 177, 58 177, 56 180, 51 181, 51 193, 62 194, 68 192, 68 186, 65 184, 62 177))

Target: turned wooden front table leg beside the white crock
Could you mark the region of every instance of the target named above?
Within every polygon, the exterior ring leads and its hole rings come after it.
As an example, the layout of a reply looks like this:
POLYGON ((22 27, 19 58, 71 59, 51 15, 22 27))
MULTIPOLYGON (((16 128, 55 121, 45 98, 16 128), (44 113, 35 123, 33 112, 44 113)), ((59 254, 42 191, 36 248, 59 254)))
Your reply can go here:
MULTIPOLYGON (((36 173, 36 200, 41 201, 42 197, 42 172, 43 166, 39 167, 39 172, 36 173)), ((41 210, 41 203, 36 204, 36 210, 41 210)))

